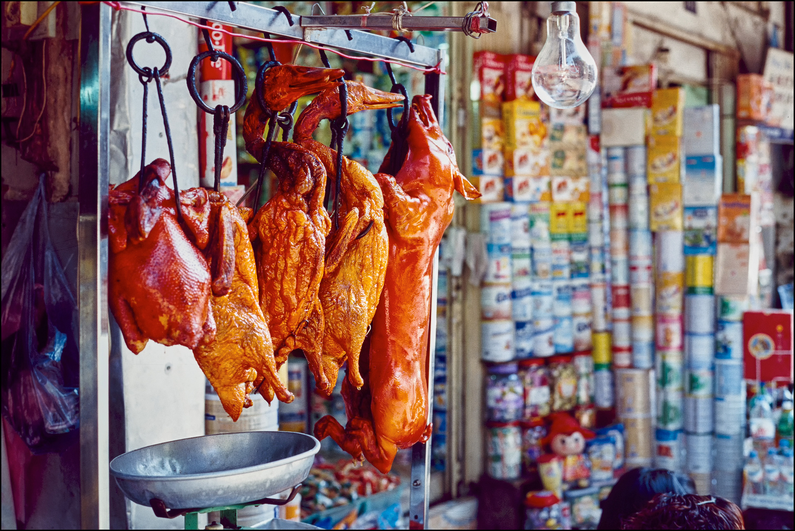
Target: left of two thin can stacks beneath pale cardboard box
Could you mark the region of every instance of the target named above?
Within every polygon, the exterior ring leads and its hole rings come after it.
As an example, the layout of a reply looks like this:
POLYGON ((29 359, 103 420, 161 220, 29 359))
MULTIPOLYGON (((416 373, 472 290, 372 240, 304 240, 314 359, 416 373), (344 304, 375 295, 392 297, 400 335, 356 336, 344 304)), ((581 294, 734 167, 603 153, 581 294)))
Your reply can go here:
POLYGON ((613 365, 623 368, 632 366, 629 178, 623 147, 607 148, 607 185, 610 205, 613 365))

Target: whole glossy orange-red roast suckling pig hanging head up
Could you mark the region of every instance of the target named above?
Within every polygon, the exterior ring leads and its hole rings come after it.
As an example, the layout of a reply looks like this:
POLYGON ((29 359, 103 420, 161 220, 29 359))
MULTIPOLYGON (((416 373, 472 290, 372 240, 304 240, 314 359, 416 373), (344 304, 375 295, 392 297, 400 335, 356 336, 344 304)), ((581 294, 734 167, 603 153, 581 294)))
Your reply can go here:
POLYGON ((345 451, 366 458, 382 472, 390 470, 398 448, 430 435, 427 369, 433 256, 452 220, 453 189, 467 199, 480 195, 460 174, 430 96, 414 97, 407 135, 408 153, 397 175, 374 175, 384 196, 390 246, 370 349, 359 365, 366 385, 357 390, 343 382, 346 428, 332 416, 315 425, 318 439, 331 436, 345 451))

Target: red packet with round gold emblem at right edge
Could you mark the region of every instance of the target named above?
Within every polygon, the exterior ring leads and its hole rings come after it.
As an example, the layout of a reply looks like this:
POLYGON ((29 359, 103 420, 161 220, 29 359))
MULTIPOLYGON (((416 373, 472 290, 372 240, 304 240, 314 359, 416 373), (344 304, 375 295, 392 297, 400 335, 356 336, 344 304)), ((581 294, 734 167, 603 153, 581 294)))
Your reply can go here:
POLYGON ((745 379, 793 381, 793 313, 791 310, 743 314, 745 379))

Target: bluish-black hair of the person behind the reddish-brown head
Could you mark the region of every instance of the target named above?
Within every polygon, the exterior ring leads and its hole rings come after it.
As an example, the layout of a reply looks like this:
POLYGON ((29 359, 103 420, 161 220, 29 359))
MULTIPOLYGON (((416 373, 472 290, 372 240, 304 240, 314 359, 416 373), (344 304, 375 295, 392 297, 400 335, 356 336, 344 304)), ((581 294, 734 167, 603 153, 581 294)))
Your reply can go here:
POLYGON ((663 492, 692 494, 696 486, 688 476, 671 470, 633 468, 627 471, 600 504, 602 517, 596 529, 619 529, 623 517, 637 513, 655 494, 663 492))

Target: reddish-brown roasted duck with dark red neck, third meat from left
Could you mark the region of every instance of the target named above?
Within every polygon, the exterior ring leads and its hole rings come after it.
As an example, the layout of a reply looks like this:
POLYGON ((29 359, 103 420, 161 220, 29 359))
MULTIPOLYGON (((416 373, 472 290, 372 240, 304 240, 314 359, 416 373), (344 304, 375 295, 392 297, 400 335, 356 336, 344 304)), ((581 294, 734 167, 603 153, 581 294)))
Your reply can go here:
MULTIPOLYGON (((278 65, 266 72, 263 100, 271 110, 287 107, 301 96, 335 87, 343 70, 278 65)), ((243 123, 246 150, 262 161, 267 112, 257 97, 250 100, 243 123)), ((249 223, 259 280, 259 303, 270 329, 277 367, 294 349, 320 356, 320 346, 304 335, 309 317, 323 322, 317 297, 324 271, 325 237, 331 220, 324 209, 326 170, 318 158, 293 143, 273 142, 267 161, 279 185, 273 197, 249 223)), ((322 329, 322 325, 321 325, 322 329)), ((319 361, 313 360, 313 363, 319 361)), ((269 391, 263 385, 266 398, 269 391)))

